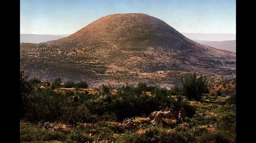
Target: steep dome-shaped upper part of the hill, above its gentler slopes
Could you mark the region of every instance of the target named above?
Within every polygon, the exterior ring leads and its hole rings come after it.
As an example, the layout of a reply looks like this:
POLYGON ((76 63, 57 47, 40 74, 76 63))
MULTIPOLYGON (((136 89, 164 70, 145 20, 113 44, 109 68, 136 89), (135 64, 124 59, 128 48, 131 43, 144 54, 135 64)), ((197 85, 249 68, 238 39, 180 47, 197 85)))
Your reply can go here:
POLYGON ((70 42, 79 46, 106 44, 134 50, 155 46, 187 50, 198 46, 164 21, 140 13, 108 15, 66 38, 54 41, 54 43, 70 42))

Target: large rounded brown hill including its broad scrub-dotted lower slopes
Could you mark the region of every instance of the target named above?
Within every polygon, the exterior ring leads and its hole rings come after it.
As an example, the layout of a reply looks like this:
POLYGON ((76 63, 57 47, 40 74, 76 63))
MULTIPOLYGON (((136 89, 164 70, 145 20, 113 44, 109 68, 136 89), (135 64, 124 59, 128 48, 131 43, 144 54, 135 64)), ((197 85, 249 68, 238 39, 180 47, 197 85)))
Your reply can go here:
POLYGON ((192 41, 164 21, 139 13, 108 15, 58 40, 20 43, 25 75, 47 81, 61 76, 92 83, 151 77, 156 82, 167 78, 151 74, 174 70, 233 76, 235 61, 236 53, 192 41))

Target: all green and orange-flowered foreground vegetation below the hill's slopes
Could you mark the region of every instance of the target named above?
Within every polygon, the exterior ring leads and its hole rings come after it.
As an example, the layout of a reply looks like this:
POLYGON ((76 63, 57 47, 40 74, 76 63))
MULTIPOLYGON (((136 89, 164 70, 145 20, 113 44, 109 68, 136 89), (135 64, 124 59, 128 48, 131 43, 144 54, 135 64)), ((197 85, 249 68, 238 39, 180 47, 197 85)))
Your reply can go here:
POLYGON ((53 83, 28 81, 20 73, 21 142, 236 141, 235 80, 210 86, 192 75, 172 90, 139 83, 115 93, 109 86, 92 93, 79 86, 88 87, 86 82, 67 82, 72 90, 60 89, 59 83, 61 78, 53 83), (178 113, 181 108, 186 111, 183 122, 164 118, 162 124, 153 125, 148 118, 154 111, 178 113), (133 129, 125 125, 129 119, 135 123, 133 129))

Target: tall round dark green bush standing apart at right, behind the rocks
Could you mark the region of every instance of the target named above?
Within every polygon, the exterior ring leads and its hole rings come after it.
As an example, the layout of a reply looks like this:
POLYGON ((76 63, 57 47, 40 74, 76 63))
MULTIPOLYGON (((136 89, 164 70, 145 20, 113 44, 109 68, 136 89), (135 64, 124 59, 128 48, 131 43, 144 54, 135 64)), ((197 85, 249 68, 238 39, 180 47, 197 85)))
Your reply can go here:
POLYGON ((197 79, 196 74, 182 80, 182 89, 185 96, 190 100, 201 100, 202 94, 209 93, 206 79, 202 75, 197 79))

